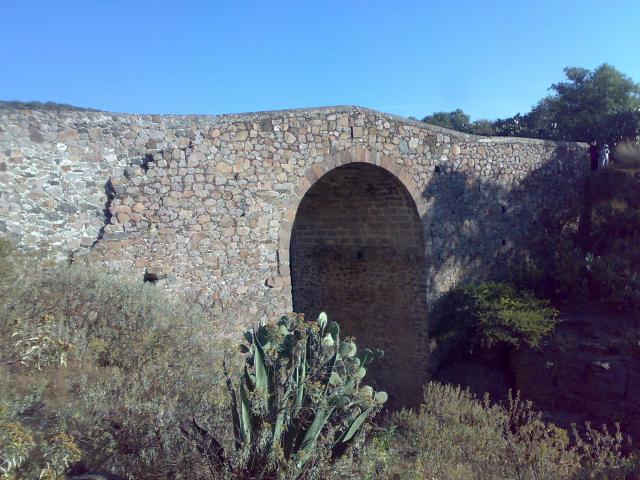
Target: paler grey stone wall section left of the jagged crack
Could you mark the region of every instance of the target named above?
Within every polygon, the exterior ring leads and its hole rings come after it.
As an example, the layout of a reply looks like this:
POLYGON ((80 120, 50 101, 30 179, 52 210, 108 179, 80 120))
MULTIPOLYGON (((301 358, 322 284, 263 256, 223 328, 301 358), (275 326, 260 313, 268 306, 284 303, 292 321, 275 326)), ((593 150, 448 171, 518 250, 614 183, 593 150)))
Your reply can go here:
POLYGON ((0 233, 26 247, 88 250, 108 215, 109 178, 145 148, 129 133, 143 122, 122 120, 0 107, 0 233))

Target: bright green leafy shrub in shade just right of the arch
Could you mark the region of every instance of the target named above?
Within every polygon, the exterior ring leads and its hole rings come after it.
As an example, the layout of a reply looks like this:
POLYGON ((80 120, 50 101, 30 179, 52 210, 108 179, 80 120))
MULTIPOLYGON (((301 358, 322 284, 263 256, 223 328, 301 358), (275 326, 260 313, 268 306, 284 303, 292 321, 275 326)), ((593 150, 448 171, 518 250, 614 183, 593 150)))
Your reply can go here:
POLYGON ((452 292, 441 306, 435 337, 468 350, 494 345, 537 347, 555 328, 556 310, 548 301, 506 283, 487 282, 452 292))

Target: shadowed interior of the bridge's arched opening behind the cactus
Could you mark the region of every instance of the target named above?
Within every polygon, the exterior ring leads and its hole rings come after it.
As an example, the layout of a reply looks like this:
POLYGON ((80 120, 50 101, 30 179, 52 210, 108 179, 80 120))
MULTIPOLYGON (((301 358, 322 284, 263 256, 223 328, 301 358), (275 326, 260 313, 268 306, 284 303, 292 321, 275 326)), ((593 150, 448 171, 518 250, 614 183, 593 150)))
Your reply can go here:
POLYGON ((290 255, 294 310, 326 311, 343 337, 383 349, 367 381, 392 405, 419 401, 428 359, 424 238, 400 180, 367 163, 329 171, 298 206, 290 255))

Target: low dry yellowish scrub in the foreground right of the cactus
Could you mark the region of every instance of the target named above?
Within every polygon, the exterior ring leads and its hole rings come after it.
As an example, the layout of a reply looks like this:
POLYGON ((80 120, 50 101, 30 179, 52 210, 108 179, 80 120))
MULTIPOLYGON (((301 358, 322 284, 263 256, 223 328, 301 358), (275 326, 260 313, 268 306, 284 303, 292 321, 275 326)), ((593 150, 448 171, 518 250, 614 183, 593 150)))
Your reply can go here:
POLYGON ((571 444, 565 430, 544 422, 517 396, 492 405, 460 387, 430 383, 424 400, 418 412, 393 416, 402 468, 410 472, 402 478, 624 479, 637 462, 621 453, 619 433, 588 427, 589 439, 578 436, 571 444))

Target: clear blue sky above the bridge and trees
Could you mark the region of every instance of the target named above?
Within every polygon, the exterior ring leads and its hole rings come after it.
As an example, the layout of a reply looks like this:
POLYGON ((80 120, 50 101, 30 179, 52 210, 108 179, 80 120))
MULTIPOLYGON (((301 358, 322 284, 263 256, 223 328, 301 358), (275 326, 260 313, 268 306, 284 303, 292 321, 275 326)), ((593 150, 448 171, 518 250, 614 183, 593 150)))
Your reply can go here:
POLYGON ((118 112, 526 112, 566 66, 640 81, 640 0, 0 0, 0 99, 118 112))

